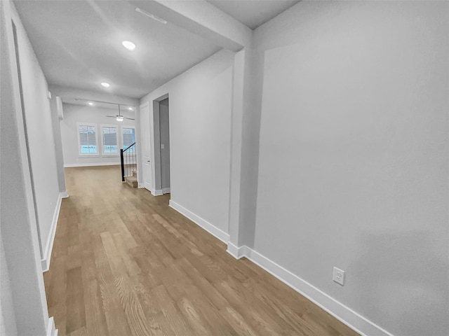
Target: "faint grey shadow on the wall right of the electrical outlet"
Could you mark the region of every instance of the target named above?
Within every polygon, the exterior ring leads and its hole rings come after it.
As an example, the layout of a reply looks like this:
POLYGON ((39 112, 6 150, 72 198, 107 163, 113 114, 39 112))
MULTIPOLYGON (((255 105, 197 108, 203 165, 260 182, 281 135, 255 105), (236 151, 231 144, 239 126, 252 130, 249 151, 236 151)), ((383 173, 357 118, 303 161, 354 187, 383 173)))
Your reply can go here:
POLYGON ((447 235, 425 231, 386 232, 361 238, 354 269, 361 287, 356 307, 371 321, 384 321, 393 335, 447 336, 449 260, 447 235), (444 241, 446 239, 446 241, 444 241), (366 262, 376 260, 377 263, 366 262), (389 325, 399 325, 398 330, 389 325))

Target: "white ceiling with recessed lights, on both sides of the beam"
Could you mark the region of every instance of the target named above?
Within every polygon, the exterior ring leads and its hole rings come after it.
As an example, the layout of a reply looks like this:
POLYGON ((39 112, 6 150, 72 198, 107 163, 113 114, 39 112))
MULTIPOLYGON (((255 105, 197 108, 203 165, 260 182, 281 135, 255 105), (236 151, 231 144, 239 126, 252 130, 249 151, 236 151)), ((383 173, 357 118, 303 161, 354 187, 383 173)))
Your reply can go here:
MULTIPOLYGON (((208 2, 253 28, 297 1, 208 2)), ((164 25, 137 13, 126 1, 14 3, 51 85, 140 98, 221 48, 170 22, 164 25), (130 52, 123 40, 137 47, 130 52)))

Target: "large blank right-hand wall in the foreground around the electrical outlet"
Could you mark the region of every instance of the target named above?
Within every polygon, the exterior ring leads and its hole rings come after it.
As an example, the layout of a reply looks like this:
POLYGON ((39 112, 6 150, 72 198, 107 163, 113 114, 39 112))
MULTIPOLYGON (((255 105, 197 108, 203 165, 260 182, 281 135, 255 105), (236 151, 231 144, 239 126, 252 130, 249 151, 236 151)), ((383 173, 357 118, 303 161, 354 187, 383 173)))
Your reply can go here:
POLYGON ((396 336, 449 330, 448 12, 301 1, 255 30, 254 248, 396 336))

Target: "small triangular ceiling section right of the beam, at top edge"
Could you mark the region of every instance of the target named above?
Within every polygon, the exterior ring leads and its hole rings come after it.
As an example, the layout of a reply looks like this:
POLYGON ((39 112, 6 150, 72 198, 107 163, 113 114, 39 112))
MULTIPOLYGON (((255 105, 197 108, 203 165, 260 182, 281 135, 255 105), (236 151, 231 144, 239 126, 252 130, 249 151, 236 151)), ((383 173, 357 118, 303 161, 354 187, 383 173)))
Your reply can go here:
POLYGON ((256 29, 299 0, 206 0, 250 29, 256 29))

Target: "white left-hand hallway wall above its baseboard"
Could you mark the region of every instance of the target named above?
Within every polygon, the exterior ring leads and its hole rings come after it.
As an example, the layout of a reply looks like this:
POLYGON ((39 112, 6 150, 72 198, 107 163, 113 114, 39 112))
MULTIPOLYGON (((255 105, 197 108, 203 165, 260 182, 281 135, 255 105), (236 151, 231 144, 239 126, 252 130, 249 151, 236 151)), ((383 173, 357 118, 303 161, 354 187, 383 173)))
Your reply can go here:
POLYGON ((34 200, 41 240, 41 257, 46 258, 53 216, 58 211, 59 182, 48 85, 25 29, 18 22, 18 51, 22 76, 23 108, 27 127, 34 200))

